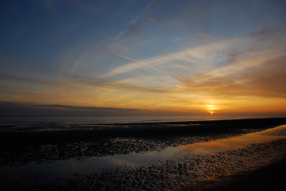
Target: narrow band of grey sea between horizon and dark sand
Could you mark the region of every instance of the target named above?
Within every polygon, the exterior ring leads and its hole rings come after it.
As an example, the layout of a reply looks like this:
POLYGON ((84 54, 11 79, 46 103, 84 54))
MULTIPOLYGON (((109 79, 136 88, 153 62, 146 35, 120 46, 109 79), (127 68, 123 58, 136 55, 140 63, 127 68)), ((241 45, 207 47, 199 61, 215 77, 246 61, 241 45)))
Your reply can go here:
POLYGON ((136 123, 165 121, 195 121, 219 119, 247 119, 285 117, 286 115, 228 115, 228 116, 0 116, 4 125, 68 125, 100 123, 136 123))

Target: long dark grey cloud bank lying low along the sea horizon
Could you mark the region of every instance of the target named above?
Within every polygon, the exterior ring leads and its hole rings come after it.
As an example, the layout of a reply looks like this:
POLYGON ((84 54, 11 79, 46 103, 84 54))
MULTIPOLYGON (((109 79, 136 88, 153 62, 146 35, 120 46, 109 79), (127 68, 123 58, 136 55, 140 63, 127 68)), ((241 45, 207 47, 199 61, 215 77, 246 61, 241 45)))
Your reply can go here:
MULTIPOLYGON (((130 109, 115 107, 83 107, 59 104, 38 104, 28 102, 0 101, 0 115, 53 115, 53 116, 174 116, 189 115, 184 112, 168 112, 166 110, 151 111, 148 109, 130 109), (3 112, 5 111, 5 112, 3 112)), ((192 113, 194 114, 194 113, 192 113)), ((198 114, 198 113, 197 113, 198 114)))

